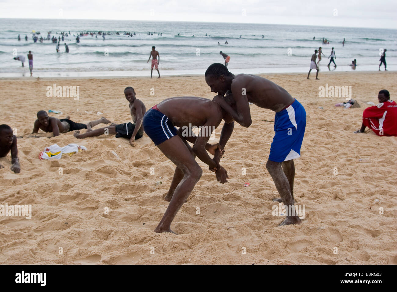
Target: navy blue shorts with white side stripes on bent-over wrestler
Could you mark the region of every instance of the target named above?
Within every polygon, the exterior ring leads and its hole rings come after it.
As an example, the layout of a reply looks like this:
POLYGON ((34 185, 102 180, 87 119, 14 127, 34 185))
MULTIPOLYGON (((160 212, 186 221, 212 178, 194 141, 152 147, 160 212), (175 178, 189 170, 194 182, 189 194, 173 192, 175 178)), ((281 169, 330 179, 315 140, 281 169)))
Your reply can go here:
POLYGON ((154 145, 159 145, 178 135, 177 128, 168 119, 168 116, 154 108, 150 108, 143 116, 143 129, 146 135, 152 139, 154 145))

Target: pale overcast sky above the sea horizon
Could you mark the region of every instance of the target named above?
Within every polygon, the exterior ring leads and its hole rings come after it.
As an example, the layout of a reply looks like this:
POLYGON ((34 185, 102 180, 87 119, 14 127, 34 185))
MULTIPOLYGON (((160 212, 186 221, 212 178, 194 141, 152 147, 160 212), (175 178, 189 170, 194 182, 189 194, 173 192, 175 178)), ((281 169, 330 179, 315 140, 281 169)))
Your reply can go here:
POLYGON ((1 18, 126 19, 397 28, 397 0, 0 0, 1 18))

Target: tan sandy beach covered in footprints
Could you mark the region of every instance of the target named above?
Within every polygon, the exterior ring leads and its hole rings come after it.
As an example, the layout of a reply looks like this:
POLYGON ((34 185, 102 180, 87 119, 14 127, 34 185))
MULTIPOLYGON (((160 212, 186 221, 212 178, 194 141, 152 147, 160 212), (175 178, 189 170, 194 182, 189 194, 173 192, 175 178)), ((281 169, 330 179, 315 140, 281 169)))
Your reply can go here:
MULTIPOLYGON (((272 215, 278 192, 265 166, 274 136, 270 110, 251 105, 252 125, 236 124, 221 159, 226 184, 196 159, 203 175, 172 223, 179 235, 153 231, 168 206, 162 196, 175 166, 146 134, 131 147, 115 136, 76 139, 69 132, 48 139, 50 133, 39 131, 43 137, 18 139, 21 173, 11 172, 10 153, 0 158, 0 204, 32 206, 30 220, 0 217, 0 264, 397 264, 397 137, 368 129, 353 134, 366 102, 378 103, 378 91, 396 99, 397 72, 320 71, 320 80, 315 72, 311 80, 307 73, 261 76, 306 109, 294 186, 297 205, 305 207, 302 224, 278 227, 284 217, 272 215), (351 86, 360 107, 334 106, 345 97, 319 97, 326 83, 351 86), (45 147, 69 143, 87 150, 40 161, 45 147)), ((50 116, 79 123, 102 116, 129 122, 127 86, 146 109, 168 97, 214 97, 204 75, 0 79, 0 124, 27 136, 37 111, 49 109, 63 112, 50 116), (47 97, 54 83, 79 86, 79 99, 47 97)), ((210 143, 218 141, 222 125, 210 143)))

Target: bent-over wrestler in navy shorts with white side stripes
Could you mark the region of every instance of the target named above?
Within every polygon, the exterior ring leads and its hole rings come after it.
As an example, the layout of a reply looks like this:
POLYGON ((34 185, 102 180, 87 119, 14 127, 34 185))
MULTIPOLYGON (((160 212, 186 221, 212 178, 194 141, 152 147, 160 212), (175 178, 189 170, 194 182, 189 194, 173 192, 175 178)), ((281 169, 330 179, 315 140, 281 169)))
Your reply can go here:
POLYGON ((202 174, 202 169, 195 161, 196 155, 209 166, 211 171, 215 172, 219 182, 222 184, 227 182, 227 172, 219 165, 223 149, 220 144, 223 146, 226 144, 233 127, 233 119, 216 102, 201 97, 169 98, 146 112, 143 117, 145 133, 152 139, 154 145, 177 166, 170 190, 164 198, 170 201, 170 204, 155 232, 173 232, 171 222, 202 174), (228 126, 222 130, 220 143, 208 144, 212 131, 219 126, 222 119, 228 126), (175 126, 181 128, 177 130, 175 126), (191 131, 191 128, 195 126, 201 126, 198 136, 191 131), (193 143, 193 148, 187 141, 193 143), (213 159, 206 150, 215 155, 213 159))

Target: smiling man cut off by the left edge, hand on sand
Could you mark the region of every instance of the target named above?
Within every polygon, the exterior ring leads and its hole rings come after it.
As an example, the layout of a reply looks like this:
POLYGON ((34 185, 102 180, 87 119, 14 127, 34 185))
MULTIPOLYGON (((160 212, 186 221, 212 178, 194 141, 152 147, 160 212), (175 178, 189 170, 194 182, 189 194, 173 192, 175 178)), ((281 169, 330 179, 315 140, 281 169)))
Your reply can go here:
MULTIPOLYGON (((10 126, 0 125, 0 157, 5 157, 11 150, 11 170, 15 173, 21 172, 18 159, 17 137, 13 134, 10 126)), ((4 168, 0 164, 0 168, 4 168)))

